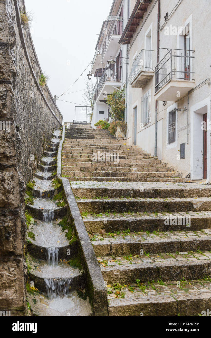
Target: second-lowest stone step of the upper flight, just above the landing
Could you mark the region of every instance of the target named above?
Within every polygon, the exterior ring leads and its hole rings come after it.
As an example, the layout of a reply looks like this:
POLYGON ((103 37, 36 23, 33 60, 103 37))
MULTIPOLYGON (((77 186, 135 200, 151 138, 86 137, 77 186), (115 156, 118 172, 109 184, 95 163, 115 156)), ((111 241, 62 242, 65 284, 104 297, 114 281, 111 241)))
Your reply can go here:
POLYGON ((62 174, 75 177, 182 177, 181 172, 125 172, 125 171, 68 171, 67 167, 62 167, 62 174))

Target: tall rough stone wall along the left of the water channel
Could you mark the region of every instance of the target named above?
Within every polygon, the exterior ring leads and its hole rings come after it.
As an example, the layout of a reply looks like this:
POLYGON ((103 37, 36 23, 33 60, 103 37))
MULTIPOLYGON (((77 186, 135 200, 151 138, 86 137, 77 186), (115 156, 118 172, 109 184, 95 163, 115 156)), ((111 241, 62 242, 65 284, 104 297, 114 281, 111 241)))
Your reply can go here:
POLYGON ((42 74, 23 0, 0 0, 0 310, 25 314, 25 184, 62 115, 42 74))

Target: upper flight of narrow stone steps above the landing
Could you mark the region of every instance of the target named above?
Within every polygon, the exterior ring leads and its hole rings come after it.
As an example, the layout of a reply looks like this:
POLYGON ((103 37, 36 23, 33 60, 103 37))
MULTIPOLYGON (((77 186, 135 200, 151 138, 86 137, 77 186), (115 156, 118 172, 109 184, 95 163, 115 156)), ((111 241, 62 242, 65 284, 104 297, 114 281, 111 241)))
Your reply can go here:
POLYGON ((181 172, 168 168, 138 146, 128 146, 122 139, 115 140, 108 130, 92 129, 87 125, 65 129, 62 174, 82 181, 187 181, 181 178, 181 172), (106 162, 103 159, 106 153, 114 154, 115 159, 106 162), (93 154, 97 162, 93 161, 93 154))

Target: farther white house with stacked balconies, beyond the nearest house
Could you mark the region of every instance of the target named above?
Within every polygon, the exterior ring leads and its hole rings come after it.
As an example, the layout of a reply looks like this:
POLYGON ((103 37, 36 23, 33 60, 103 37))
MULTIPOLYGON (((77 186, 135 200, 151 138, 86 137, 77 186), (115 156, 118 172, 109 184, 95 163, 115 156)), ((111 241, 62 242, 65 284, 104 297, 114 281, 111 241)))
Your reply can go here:
POLYGON ((127 46, 119 44, 119 40, 129 18, 128 6, 129 0, 113 1, 96 43, 96 53, 91 65, 91 74, 95 79, 92 127, 99 120, 109 120, 107 94, 126 85, 127 46), (114 64, 109 66, 110 60, 114 64))

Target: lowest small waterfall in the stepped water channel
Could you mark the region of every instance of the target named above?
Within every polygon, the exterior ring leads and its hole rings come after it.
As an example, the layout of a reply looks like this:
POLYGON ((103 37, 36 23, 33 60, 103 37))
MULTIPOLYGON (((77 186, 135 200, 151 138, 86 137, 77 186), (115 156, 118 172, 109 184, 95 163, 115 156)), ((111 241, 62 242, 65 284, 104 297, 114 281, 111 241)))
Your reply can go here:
POLYGON ((57 279, 44 278, 47 295, 49 298, 55 298, 57 295, 66 295, 69 292, 71 278, 57 279))

